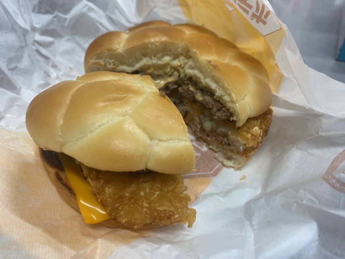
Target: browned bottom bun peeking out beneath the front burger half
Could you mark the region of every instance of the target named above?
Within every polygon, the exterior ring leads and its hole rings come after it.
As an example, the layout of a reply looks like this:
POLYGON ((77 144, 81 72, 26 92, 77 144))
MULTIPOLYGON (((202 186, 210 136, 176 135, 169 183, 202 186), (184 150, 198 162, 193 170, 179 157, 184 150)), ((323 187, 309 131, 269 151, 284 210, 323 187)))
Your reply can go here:
MULTIPOLYGON (((78 202, 76 200, 76 195, 73 192, 71 185, 69 184, 65 171, 59 169, 58 167, 56 167, 56 165, 50 163, 47 160, 47 157, 42 148, 40 148, 39 150, 43 166, 46 169, 49 179, 54 184, 56 190, 61 195, 62 199, 67 202, 68 205, 70 205, 76 211, 80 212, 78 202)), ((109 228, 126 228, 124 224, 118 222, 116 219, 108 219, 98 224, 101 224, 109 228)), ((154 227, 160 226, 154 224, 146 224, 145 226, 142 226, 141 229, 154 227)))

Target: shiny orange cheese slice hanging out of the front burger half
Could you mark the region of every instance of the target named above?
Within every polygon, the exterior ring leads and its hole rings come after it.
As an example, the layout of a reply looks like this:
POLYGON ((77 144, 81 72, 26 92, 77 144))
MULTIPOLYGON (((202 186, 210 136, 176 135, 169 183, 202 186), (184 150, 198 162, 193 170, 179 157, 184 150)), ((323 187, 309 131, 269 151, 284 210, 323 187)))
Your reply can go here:
POLYGON ((91 185, 85 179, 84 173, 80 166, 72 157, 59 153, 63 168, 65 169, 71 188, 77 196, 77 202, 81 215, 86 223, 96 224, 111 216, 101 204, 96 195, 91 190, 91 185))

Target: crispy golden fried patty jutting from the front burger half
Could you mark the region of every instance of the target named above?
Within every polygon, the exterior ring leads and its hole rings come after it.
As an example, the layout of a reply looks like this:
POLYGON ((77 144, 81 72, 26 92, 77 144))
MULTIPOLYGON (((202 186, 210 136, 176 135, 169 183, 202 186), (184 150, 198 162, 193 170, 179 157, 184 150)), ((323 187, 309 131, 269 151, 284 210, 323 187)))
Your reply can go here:
POLYGON ((196 210, 188 208, 181 175, 100 171, 81 164, 93 193, 117 221, 129 228, 187 223, 192 227, 196 210))

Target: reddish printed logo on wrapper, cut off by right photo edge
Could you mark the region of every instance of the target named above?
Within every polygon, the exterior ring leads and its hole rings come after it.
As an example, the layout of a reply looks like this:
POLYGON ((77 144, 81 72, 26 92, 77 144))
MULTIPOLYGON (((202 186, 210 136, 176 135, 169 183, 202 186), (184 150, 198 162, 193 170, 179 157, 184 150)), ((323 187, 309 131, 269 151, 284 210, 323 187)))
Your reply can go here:
POLYGON ((333 189, 345 193, 345 150, 333 159, 322 179, 333 189))

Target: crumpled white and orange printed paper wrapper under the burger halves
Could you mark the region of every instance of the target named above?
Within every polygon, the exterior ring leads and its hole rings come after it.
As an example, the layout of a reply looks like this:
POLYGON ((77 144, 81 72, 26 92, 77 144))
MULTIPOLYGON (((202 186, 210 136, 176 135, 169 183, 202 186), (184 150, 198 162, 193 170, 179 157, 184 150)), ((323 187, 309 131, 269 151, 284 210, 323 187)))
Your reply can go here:
POLYGON ((270 8, 265 0, 2 1, 1 257, 342 258, 345 85, 303 64, 270 8), (26 108, 43 89, 84 74, 94 38, 154 19, 204 25, 260 60, 275 93, 272 126, 238 171, 193 140, 198 170, 185 176, 193 228, 85 224, 49 181, 26 108))

